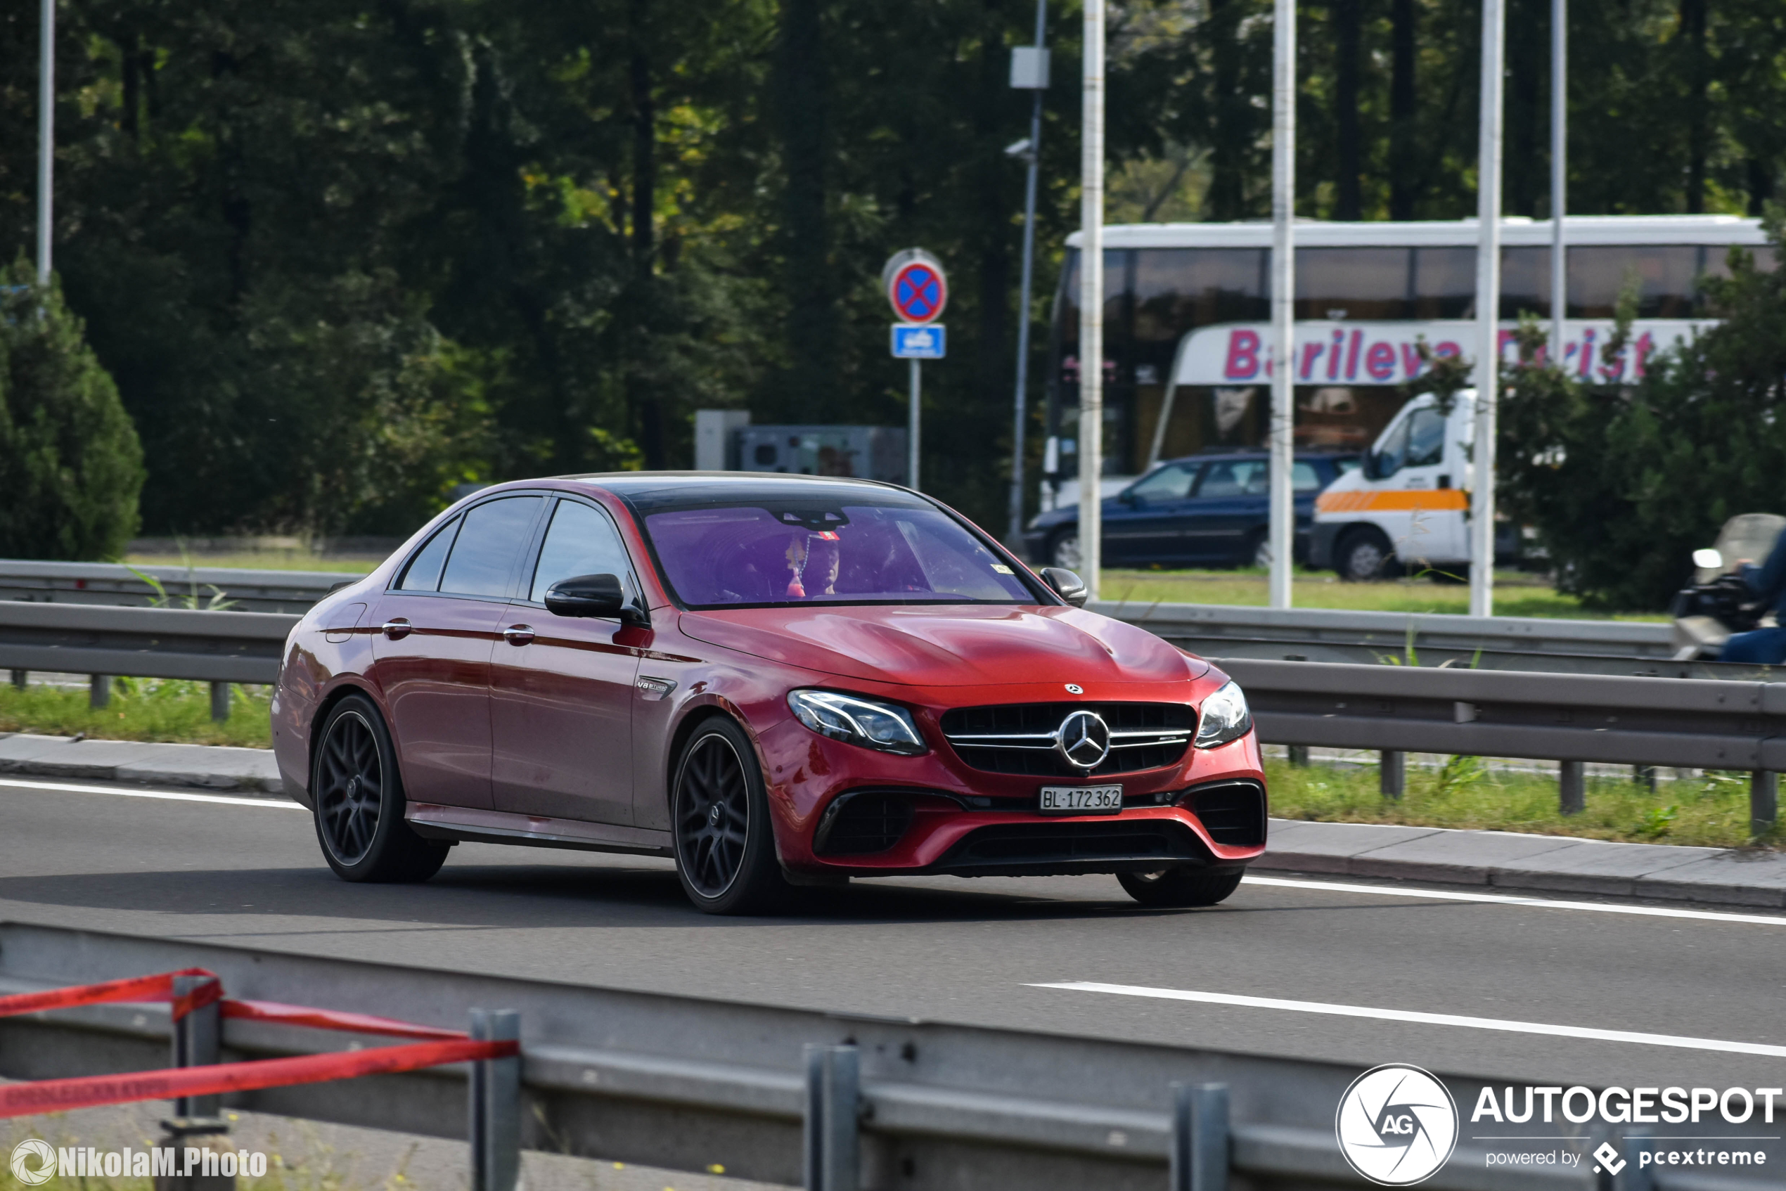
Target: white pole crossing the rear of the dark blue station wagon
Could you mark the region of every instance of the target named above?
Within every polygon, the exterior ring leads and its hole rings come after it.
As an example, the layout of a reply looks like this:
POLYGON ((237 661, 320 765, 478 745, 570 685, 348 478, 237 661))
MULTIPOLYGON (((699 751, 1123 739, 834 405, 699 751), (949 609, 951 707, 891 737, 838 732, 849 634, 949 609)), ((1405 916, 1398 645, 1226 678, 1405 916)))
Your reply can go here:
MULTIPOLYGON (((1289 607, 1297 543, 1297 0, 1277 0, 1272 62, 1272 607, 1289 607)), ((1252 562, 1252 559, 1248 559, 1252 562)))

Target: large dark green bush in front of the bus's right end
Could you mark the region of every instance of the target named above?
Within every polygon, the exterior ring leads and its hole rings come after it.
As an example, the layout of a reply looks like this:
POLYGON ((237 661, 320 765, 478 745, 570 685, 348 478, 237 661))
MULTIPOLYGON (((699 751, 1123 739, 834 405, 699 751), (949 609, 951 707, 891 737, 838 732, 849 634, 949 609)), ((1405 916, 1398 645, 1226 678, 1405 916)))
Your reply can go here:
MULTIPOLYGON (((1779 246, 1779 211, 1768 234, 1779 246)), ((1500 502, 1538 529, 1557 586, 1588 604, 1661 609, 1727 518, 1782 511, 1786 273, 1732 252, 1731 275, 1706 291, 1723 321, 1668 355, 1625 341, 1627 295, 1606 352, 1645 359, 1631 386, 1565 373, 1541 359, 1541 327, 1520 327, 1500 405, 1500 502)))

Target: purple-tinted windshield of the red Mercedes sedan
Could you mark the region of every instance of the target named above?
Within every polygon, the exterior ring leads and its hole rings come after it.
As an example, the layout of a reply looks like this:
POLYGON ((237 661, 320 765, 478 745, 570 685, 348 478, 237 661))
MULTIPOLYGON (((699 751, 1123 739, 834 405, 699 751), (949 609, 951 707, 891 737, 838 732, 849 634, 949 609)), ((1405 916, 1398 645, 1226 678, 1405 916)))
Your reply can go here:
POLYGON ((643 521, 664 579, 695 609, 1039 602, 954 518, 916 502, 745 498, 643 521))

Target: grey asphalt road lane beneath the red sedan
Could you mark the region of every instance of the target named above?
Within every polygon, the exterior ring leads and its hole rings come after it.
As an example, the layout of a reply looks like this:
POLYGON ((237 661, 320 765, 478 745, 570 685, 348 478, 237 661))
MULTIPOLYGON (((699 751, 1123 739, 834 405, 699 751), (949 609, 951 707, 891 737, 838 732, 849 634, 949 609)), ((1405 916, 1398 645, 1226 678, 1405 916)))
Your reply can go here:
POLYGON ((1166 912, 1139 909, 1113 877, 1057 877, 855 882, 811 891, 795 914, 725 920, 695 912, 666 861, 461 845, 423 886, 350 886, 293 804, 48 786, 0 780, 0 920, 1361 1068, 1786 1082, 1779 916, 1288 880, 1166 912), (1038 987, 1059 982, 1245 1004, 1038 987))

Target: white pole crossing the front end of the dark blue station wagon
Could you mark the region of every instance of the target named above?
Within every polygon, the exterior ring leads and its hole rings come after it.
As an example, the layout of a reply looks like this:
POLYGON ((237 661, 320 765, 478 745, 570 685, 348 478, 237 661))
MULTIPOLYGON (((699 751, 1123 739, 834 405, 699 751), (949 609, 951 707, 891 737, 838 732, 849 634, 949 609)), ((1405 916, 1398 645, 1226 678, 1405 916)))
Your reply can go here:
POLYGON ((1086 0, 1079 221, 1079 570, 1097 600, 1104 562, 1104 0, 1086 0))

